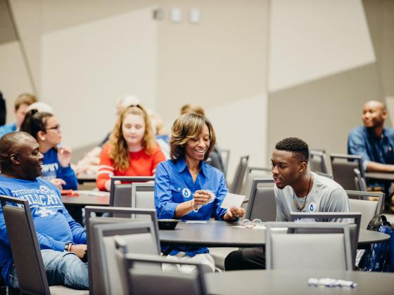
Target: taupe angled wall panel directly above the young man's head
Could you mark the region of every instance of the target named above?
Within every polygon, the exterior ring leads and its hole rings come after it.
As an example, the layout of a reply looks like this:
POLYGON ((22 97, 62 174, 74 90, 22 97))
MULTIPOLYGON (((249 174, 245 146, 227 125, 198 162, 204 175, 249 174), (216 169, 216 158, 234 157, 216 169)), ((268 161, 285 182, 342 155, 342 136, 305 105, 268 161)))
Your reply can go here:
POLYGON ((269 97, 269 146, 288 136, 327 152, 346 152, 348 133, 362 124, 362 105, 383 99, 376 65, 298 85, 269 97))

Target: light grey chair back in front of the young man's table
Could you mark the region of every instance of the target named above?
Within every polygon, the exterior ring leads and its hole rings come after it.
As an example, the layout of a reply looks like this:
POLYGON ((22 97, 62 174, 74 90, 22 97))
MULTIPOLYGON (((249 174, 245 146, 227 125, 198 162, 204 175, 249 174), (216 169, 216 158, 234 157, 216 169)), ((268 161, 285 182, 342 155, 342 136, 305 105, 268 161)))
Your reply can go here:
POLYGON ((265 227, 267 270, 352 270, 348 224, 283 222, 265 227))

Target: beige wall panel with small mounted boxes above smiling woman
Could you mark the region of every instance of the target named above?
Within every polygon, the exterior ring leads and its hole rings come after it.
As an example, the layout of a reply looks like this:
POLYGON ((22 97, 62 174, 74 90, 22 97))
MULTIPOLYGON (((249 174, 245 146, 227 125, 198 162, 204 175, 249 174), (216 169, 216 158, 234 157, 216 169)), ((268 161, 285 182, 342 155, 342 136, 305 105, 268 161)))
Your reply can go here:
POLYGON ((267 1, 163 1, 161 7, 158 111, 167 123, 186 103, 209 109, 266 92, 267 1), (182 22, 169 20, 174 7, 182 9, 182 22), (189 22, 194 7, 201 9, 196 25, 189 22))

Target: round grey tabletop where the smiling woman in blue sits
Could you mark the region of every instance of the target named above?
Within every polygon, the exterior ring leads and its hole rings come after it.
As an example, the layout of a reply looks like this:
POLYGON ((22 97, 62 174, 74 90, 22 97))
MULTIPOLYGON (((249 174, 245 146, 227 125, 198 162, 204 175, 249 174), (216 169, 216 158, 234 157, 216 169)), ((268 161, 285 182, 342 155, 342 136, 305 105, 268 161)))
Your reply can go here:
MULTIPOLYGON (((243 228, 225 221, 179 222, 174 230, 160 230, 159 236, 163 244, 201 247, 260 247, 265 244, 265 228, 243 228)), ((382 232, 360 230, 359 245, 389 238, 382 232)))

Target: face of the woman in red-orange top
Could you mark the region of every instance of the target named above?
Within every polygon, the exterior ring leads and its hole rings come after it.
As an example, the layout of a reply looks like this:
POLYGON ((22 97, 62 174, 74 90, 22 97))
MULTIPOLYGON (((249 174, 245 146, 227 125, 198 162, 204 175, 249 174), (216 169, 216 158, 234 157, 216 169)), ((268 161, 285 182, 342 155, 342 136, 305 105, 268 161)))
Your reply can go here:
POLYGON ((145 135, 144 117, 140 114, 127 114, 122 123, 122 135, 129 147, 142 146, 145 135))

